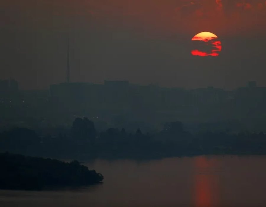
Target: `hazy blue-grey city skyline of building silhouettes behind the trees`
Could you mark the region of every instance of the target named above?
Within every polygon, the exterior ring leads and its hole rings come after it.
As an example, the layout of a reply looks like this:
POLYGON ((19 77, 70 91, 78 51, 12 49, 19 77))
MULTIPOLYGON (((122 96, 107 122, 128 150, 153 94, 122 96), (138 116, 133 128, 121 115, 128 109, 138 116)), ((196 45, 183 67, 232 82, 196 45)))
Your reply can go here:
POLYGON ((13 116, 28 122, 30 118, 35 120, 33 124, 40 119, 47 124, 68 125, 75 117, 88 117, 96 126, 127 129, 148 130, 181 121, 235 122, 266 130, 266 87, 258 87, 254 81, 235 90, 211 86, 165 88, 105 80, 103 84, 65 82, 50 85, 49 90, 18 91, 16 81, 2 80, 0 91, 3 119, 13 116))

